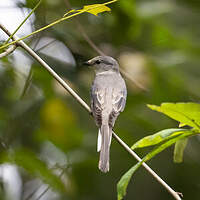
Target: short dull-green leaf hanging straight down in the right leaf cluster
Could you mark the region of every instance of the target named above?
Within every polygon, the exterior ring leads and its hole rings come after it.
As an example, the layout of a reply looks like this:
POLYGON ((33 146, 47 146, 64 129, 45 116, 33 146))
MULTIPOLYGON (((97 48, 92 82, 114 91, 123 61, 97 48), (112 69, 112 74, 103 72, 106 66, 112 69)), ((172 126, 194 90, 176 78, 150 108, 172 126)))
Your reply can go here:
POLYGON ((183 153, 185 147, 187 146, 188 138, 178 140, 174 147, 174 162, 181 163, 183 162, 183 153))

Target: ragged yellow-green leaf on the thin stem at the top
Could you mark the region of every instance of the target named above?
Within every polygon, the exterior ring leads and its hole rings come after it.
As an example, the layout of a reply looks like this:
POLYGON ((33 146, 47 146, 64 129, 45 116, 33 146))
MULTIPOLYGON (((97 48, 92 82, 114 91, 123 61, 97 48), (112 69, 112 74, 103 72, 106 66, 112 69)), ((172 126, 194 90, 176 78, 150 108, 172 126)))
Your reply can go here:
POLYGON ((104 4, 92 4, 92 5, 84 6, 83 9, 80 9, 80 10, 74 10, 74 9, 70 10, 64 15, 64 17, 74 12, 88 12, 90 14, 97 16, 99 13, 102 13, 105 11, 111 11, 111 9, 108 6, 105 6, 104 4))

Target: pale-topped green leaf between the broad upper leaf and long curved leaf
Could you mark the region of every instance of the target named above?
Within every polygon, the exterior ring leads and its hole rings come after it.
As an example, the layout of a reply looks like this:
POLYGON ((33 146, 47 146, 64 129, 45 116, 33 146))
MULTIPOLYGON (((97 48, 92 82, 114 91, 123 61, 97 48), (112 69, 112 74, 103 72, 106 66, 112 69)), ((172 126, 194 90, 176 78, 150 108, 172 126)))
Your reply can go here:
POLYGON ((136 148, 153 146, 161 142, 164 142, 166 140, 169 140, 172 137, 183 134, 184 131, 187 131, 187 129, 180 129, 180 128, 165 129, 153 135, 149 135, 142 138, 141 140, 137 141, 131 148, 136 149, 136 148))

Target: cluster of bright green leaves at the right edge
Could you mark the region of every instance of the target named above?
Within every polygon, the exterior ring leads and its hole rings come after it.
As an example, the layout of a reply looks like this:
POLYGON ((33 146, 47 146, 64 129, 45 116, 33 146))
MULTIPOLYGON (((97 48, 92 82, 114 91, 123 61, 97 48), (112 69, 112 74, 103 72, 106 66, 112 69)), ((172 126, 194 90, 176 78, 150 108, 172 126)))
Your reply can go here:
MULTIPOLYGON (((120 179, 117 184, 118 200, 121 200, 125 194, 128 183, 132 175, 137 169, 146 162, 162 152, 164 149, 175 144, 174 148, 174 162, 181 162, 183 160, 183 152, 187 145, 188 138, 200 134, 200 104, 197 103, 163 103, 161 106, 148 105, 152 110, 164 113, 165 115, 177 120, 182 126, 190 126, 188 129, 172 128, 159 131, 150 136, 146 136, 137 141, 132 149, 144 148, 148 146, 155 147, 148 153, 140 162, 129 169, 120 179)), ((179 125, 180 126, 180 125, 179 125)))

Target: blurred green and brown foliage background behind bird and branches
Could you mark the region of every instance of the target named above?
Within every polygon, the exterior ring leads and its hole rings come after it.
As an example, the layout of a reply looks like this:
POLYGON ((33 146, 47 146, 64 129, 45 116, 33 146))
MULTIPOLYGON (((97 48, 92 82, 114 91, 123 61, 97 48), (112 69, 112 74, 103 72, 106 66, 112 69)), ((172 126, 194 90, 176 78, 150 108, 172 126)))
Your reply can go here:
MULTIPOLYGON (((14 31, 36 0, 1 0, 0 23, 14 31)), ((74 9, 104 1, 70 0, 74 9)), ((44 0, 17 35, 25 36, 69 10, 68 0, 44 0)), ((87 102, 94 73, 82 63, 96 55, 77 25, 129 77, 128 99, 115 132, 128 144, 178 123, 146 104, 200 101, 200 2, 121 0, 111 13, 82 14, 26 39, 87 102)), ((0 42, 6 35, 0 31, 0 42)), ((101 173, 97 128, 91 116, 26 52, 0 60, 0 199, 116 199, 116 184, 136 161, 115 141, 111 170, 101 173)), ((149 165, 184 199, 200 197, 200 140, 191 138, 184 162, 173 147, 149 165)), ((142 157, 149 148, 137 150, 142 157)), ((173 199, 144 169, 131 179, 125 199, 173 199)))

